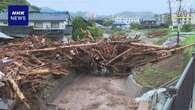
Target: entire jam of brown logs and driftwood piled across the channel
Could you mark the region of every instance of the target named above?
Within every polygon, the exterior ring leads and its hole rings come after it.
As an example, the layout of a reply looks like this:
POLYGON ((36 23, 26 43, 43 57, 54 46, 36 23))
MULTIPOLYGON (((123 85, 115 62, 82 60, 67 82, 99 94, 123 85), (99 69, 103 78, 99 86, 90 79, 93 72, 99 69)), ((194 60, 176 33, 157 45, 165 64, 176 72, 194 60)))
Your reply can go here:
POLYGON ((30 96, 49 85, 50 75, 66 76, 71 69, 127 75, 134 67, 162 60, 188 47, 168 49, 126 37, 61 43, 36 36, 3 42, 0 46, 0 82, 5 83, 5 87, 0 86, 0 97, 17 96, 27 108, 30 96))

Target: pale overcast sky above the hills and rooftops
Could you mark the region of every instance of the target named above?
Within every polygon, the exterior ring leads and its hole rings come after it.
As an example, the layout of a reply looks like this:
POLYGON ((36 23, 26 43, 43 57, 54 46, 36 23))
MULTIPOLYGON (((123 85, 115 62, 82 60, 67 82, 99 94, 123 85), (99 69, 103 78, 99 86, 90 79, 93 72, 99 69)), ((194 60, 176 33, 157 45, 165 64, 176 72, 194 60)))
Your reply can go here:
MULTIPOLYGON (((49 7, 58 11, 87 11, 96 14, 114 14, 122 11, 168 12, 167 0, 28 0, 39 7, 49 7)), ((195 6, 195 0, 189 3, 195 6)), ((187 5, 189 5, 187 4, 187 5)))

